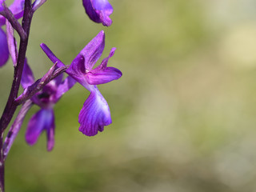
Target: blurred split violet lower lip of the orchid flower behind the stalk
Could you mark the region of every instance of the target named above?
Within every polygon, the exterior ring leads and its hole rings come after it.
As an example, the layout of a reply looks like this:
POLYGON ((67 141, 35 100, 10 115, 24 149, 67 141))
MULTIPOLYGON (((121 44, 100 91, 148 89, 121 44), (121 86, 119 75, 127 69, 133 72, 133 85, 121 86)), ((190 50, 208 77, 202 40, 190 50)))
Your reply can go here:
POLYGON ((34 145, 43 130, 47 133, 47 150, 51 150, 54 146, 54 111, 52 109, 39 110, 30 118, 26 130, 26 142, 34 145))

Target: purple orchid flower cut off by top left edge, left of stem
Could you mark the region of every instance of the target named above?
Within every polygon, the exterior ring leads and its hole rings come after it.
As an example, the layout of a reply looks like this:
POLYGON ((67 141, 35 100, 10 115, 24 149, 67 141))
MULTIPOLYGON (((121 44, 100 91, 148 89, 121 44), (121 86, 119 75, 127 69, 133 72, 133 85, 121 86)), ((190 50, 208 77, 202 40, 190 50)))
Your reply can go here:
MULTIPOLYGON (((3 10, 2 3, 5 2, 4 0, 0 0, 0 11, 3 10)), ((23 9, 24 9, 24 2, 25 0, 15 0, 10 6, 9 9, 14 14, 15 18, 22 18, 23 16, 23 9)), ((0 15, 0 26, 6 24, 6 18, 0 15)), ((8 44, 6 39, 5 32, 0 28, 0 67, 4 66, 9 58, 9 50, 8 44)))

